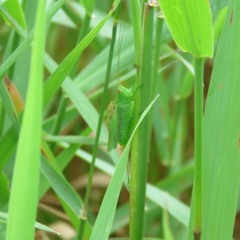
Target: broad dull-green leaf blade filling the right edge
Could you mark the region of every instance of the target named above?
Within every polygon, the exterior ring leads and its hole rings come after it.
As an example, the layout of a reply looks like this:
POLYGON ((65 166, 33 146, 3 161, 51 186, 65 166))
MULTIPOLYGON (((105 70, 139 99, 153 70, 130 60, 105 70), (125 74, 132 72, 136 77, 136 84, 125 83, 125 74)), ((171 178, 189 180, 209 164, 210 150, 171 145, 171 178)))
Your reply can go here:
POLYGON ((233 234, 240 180, 239 22, 240 1, 231 0, 204 114, 202 239, 233 234))

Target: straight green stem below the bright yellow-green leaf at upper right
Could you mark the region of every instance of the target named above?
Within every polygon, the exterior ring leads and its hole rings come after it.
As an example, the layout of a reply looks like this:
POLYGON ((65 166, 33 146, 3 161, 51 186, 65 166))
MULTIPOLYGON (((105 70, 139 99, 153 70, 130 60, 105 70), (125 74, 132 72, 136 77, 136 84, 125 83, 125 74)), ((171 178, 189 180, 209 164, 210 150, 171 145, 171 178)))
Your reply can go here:
POLYGON ((201 239, 202 231, 202 125, 203 125, 203 69, 204 60, 195 59, 194 82, 194 239, 201 239))

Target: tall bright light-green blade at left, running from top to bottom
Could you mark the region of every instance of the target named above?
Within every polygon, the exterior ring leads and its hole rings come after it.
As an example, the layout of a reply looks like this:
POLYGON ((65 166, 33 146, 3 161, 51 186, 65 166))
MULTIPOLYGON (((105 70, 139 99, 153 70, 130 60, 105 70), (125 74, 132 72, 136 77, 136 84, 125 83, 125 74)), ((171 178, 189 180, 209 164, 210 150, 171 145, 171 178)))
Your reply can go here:
POLYGON ((7 240, 34 238, 42 133, 44 15, 43 0, 39 3, 36 17, 28 94, 10 195, 7 240))

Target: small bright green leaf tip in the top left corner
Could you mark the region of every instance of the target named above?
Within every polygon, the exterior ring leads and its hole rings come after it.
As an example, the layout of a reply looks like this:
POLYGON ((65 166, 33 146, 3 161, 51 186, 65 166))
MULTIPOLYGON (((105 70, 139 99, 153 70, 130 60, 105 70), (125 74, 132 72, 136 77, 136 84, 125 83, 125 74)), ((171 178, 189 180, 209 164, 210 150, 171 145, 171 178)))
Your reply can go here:
POLYGON ((11 16, 17 21, 19 25, 22 26, 23 29, 26 29, 26 21, 25 16, 23 14, 23 10, 19 0, 7 0, 4 3, 4 6, 11 14, 11 16))

